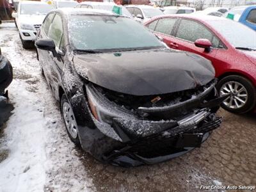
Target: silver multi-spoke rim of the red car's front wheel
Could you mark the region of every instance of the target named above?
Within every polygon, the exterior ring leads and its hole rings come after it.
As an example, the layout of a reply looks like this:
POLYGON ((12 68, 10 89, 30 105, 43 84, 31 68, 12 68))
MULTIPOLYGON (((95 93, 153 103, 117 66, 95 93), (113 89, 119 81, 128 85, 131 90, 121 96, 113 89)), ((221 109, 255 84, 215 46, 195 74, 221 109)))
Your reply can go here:
POLYGON ((248 92, 243 84, 236 81, 229 81, 223 84, 220 88, 220 95, 227 95, 231 93, 230 97, 223 101, 223 104, 231 109, 242 108, 248 100, 248 92))

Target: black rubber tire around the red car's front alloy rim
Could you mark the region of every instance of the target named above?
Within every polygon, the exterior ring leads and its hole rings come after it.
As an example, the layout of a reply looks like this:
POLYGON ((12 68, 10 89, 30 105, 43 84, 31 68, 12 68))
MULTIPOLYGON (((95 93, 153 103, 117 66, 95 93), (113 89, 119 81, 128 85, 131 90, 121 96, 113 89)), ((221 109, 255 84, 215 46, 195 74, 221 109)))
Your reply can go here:
POLYGON ((239 84, 242 84, 244 88, 246 89, 246 92, 248 93, 248 97, 246 102, 241 108, 229 108, 225 104, 221 104, 221 108, 231 112, 231 113, 237 113, 237 114, 242 114, 242 113, 247 113, 249 111, 252 111, 252 109, 255 108, 256 104, 256 89, 255 86, 252 84, 252 82, 245 77, 242 76, 237 76, 237 75, 232 75, 232 76, 227 76, 221 79, 218 84, 217 84, 217 89, 218 92, 220 93, 221 87, 228 82, 236 82, 239 84))

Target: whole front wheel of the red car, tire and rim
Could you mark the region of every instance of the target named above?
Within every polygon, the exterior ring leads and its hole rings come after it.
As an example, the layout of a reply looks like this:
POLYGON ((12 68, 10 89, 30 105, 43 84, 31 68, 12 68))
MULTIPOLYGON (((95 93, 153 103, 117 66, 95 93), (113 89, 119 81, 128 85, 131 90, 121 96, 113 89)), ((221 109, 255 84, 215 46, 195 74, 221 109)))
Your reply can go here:
POLYGON ((217 85, 220 95, 230 97, 223 101, 221 107, 231 113, 247 113, 255 108, 256 90, 248 79, 242 76, 227 76, 217 85))

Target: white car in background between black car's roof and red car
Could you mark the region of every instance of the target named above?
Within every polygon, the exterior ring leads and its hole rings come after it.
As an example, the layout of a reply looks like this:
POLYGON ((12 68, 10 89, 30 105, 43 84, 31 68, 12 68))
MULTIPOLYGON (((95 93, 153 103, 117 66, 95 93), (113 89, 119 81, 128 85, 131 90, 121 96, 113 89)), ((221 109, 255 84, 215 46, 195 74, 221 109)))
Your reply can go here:
POLYGON ((132 14, 132 17, 139 22, 147 22, 152 17, 164 15, 159 8, 154 8, 154 6, 131 4, 125 7, 132 14))

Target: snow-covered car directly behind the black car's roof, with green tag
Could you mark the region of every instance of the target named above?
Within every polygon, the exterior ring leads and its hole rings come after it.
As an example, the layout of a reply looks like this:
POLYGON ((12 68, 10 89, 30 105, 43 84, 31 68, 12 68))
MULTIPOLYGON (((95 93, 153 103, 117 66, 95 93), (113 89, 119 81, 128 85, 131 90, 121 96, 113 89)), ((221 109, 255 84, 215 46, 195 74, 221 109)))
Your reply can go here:
POLYGON ((117 5, 113 2, 92 2, 92 1, 84 1, 82 3, 77 4, 76 8, 89 8, 89 9, 97 9, 97 10, 105 10, 109 12, 113 12, 114 6, 120 7, 122 10, 122 15, 127 17, 132 17, 131 13, 125 8, 125 6, 117 5))

